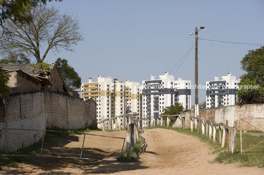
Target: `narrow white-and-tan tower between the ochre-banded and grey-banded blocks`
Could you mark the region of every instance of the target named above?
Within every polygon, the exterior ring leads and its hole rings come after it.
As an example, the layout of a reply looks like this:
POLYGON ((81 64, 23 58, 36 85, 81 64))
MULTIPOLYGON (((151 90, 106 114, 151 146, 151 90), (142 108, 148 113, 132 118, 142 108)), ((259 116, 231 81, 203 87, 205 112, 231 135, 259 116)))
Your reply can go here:
POLYGON ((138 119, 142 118, 142 94, 139 82, 126 80, 126 111, 136 112, 138 119))

